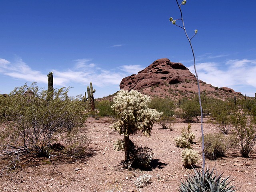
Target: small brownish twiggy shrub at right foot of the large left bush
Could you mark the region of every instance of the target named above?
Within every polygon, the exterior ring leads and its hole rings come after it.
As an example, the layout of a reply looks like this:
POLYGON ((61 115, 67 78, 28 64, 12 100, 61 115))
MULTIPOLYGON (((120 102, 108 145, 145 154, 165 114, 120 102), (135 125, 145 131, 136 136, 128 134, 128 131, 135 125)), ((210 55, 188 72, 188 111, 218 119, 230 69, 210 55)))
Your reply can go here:
POLYGON ((88 150, 91 140, 92 138, 86 134, 78 134, 77 131, 69 132, 66 137, 66 154, 76 158, 83 157, 88 150))

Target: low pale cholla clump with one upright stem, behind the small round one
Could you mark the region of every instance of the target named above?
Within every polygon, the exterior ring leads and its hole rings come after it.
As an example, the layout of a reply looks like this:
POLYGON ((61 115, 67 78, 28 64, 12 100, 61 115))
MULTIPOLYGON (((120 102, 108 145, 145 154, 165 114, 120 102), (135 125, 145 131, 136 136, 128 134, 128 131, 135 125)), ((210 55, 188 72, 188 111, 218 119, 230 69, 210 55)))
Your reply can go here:
POLYGON ((174 139, 177 147, 190 148, 190 144, 193 143, 195 134, 191 132, 191 124, 188 124, 188 128, 183 128, 181 131, 181 136, 174 139))

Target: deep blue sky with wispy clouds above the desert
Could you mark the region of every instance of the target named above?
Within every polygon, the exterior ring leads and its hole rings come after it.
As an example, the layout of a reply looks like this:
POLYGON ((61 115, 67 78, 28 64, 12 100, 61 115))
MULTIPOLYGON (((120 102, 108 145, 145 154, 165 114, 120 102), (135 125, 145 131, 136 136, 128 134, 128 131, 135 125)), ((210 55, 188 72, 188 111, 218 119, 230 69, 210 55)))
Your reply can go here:
MULTIPOLYGON (((72 86, 84 94, 93 83, 95 98, 119 90, 122 78, 160 58, 193 70, 175 0, 1 0, 0 93, 26 82, 47 89, 72 86)), ((256 1, 187 0, 186 30, 201 80, 228 86, 246 96, 256 92, 256 1)))

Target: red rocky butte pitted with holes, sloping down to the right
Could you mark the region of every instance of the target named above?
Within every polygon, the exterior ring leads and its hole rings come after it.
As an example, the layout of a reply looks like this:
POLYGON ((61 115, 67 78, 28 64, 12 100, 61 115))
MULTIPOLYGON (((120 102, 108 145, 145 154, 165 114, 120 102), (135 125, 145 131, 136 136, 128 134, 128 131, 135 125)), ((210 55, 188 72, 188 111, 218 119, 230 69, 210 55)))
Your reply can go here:
MULTIPOLYGON (((214 87, 202 80, 199 82, 201 93, 208 96, 220 99, 242 96, 240 92, 235 92, 231 88, 214 87)), ((169 97, 174 100, 192 98, 194 94, 198 94, 195 75, 183 64, 171 62, 167 58, 158 59, 138 74, 123 78, 120 89, 138 90, 150 96, 169 97)))

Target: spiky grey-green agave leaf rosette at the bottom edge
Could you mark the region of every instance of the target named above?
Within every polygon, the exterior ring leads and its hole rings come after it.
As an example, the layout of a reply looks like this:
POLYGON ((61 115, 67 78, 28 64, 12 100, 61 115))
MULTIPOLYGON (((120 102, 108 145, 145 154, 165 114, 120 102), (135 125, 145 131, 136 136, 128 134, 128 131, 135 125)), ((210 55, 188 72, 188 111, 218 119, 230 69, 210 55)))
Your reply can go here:
POLYGON ((209 168, 206 168, 204 175, 193 168, 194 174, 188 174, 185 182, 181 182, 179 186, 180 192, 235 192, 238 189, 235 189, 233 186, 228 186, 231 181, 227 182, 228 178, 221 179, 222 174, 217 176, 213 174, 214 169, 211 171, 209 168))

